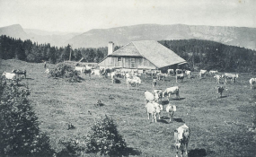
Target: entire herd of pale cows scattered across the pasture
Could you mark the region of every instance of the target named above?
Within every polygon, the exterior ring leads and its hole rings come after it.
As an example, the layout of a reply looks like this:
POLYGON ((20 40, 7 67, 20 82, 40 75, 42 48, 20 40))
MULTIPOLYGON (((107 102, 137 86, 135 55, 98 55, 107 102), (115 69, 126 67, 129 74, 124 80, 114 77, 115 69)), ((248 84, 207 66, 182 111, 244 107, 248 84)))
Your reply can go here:
MULTIPOLYGON (((125 83, 127 84, 128 90, 130 87, 135 87, 137 90, 139 89, 139 85, 142 83, 141 76, 151 77, 152 80, 152 92, 145 91, 144 92, 144 98, 145 98, 145 107, 146 107, 146 114, 147 118, 150 119, 150 116, 152 118, 152 122, 157 122, 157 118, 161 118, 161 110, 163 110, 162 105, 162 99, 164 97, 167 98, 168 104, 166 105, 166 112, 170 116, 170 122, 172 122, 173 113, 176 111, 176 106, 173 105, 170 102, 170 99, 172 95, 175 95, 175 98, 177 100, 180 100, 180 89, 179 86, 172 86, 168 87, 165 90, 159 90, 156 89, 157 80, 163 80, 170 77, 175 76, 176 83, 178 83, 179 80, 183 82, 183 79, 185 77, 187 78, 195 78, 195 76, 192 75, 191 71, 189 70, 181 70, 181 69, 168 69, 167 74, 163 74, 159 70, 137 70, 137 69, 110 69, 110 68, 99 68, 99 69, 93 69, 90 66, 75 66, 75 71, 81 73, 81 74, 89 74, 91 79, 91 74, 97 75, 99 77, 110 77, 111 83, 117 83, 119 79, 124 79, 125 83)), ((48 77, 50 73, 50 69, 47 68, 45 73, 48 77)), ((13 80, 16 81, 17 78, 19 78, 19 75, 23 75, 23 77, 26 78, 26 70, 13 70, 12 73, 6 73, 4 72, 2 75, 5 76, 6 80, 13 80)), ((199 79, 202 79, 203 77, 206 78, 206 76, 213 76, 213 78, 216 79, 216 84, 220 83, 221 79, 225 79, 224 83, 227 83, 228 80, 230 80, 231 83, 235 83, 236 79, 238 78, 238 74, 229 74, 229 73, 223 73, 219 74, 218 71, 208 71, 207 70, 200 70, 199 74, 197 76, 199 79)), ((249 80, 249 83, 251 85, 251 89, 254 88, 254 85, 256 83, 256 78, 251 78, 249 80)), ((222 94, 224 91, 226 91, 226 86, 216 86, 216 98, 218 97, 218 94, 222 97, 222 94)), ((174 130, 174 140, 175 140, 175 148, 176 148, 176 156, 178 156, 178 153, 181 153, 181 156, 183 153, 187 153, 188 150, 188 143, 190 140, 190 127, 186 126, 185 124, 178 127, 174 130)))

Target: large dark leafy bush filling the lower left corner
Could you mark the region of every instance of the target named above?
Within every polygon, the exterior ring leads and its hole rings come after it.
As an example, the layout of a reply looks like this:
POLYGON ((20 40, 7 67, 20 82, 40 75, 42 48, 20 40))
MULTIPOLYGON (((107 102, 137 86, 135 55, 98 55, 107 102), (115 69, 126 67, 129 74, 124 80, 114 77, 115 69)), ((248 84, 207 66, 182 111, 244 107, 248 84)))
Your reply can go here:
POLYGON ((51 156, 49 137, 40 132, 28 93, 0 83, 0 156, 51 156))

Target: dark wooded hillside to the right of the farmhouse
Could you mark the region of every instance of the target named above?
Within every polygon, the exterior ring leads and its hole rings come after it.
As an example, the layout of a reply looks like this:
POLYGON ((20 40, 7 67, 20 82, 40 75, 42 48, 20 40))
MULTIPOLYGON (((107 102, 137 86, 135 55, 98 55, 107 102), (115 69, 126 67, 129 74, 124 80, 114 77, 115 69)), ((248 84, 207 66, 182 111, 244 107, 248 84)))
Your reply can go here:
POLYGON ((202 39, 159 41, 184 58, 190 67, 225 72, 256 72, 256 51, 202 39))

